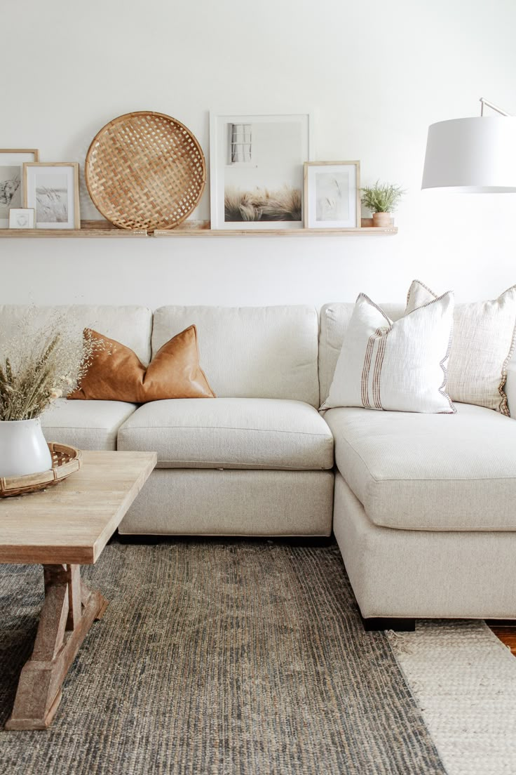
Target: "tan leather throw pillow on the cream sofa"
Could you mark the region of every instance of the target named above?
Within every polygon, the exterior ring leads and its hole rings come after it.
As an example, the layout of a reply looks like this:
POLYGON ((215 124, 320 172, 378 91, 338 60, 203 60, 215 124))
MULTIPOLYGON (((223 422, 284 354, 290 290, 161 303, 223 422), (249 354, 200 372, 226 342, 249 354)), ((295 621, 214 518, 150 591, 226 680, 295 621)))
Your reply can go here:
POLYGON ((169 339, 147 368, 120 342, 92 329, 84 329, 84 336, 103 340, 105 347, 95 351, 80 386, 68 395, 70 399, 145 404, 162 398, 215 398, 199 365, 195 325, 169 339))

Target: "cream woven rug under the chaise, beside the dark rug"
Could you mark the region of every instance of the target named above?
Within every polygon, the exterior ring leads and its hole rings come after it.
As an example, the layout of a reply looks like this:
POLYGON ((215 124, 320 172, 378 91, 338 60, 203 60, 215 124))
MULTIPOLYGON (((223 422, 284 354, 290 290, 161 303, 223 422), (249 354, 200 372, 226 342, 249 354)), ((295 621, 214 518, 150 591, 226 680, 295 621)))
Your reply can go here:
POLYGON ((449 775, 516 775, 516 658, 484 622, 418 622, 392 648, 449 775))

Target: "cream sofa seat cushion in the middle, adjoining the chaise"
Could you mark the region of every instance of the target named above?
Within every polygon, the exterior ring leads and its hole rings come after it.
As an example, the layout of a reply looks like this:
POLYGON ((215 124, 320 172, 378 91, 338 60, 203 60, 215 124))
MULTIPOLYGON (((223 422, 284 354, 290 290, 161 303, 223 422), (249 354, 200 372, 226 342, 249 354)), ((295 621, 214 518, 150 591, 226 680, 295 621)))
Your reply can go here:
POLYGON ((333 466, 333 436, 316 409, 271 398, 152 401, 121 426, 118 449, 155 450, 161 468, 333 466))

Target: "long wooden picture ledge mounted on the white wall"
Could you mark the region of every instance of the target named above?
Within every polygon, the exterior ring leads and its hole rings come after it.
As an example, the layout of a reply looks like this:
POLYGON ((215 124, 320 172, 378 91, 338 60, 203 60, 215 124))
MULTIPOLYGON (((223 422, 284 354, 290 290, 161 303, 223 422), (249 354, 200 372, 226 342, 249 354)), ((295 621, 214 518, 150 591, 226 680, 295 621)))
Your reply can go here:
POLYGON ((80 229, 0 229, 0 237, 39 239, 39 237, 137 239, 138 237, 233 237, 233 236, 388 236, 398 234, 397 226, 378 228, 371 226, 371 219, 362 219, 357 229, 210 229, 209 221, 185 221, 175 229, 118 229, 108 221, 81 221, 80 229))

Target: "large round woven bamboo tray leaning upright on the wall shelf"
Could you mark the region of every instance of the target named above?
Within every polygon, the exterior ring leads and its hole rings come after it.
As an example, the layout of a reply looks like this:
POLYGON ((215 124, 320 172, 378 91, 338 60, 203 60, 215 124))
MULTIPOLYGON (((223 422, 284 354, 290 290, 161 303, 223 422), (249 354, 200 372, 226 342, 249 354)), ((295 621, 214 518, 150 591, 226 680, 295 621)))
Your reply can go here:
POLYGON ((84 171, 94 205, 121 229, 173 229, 199 203, 206 183, 203 151, 190 129, 147 111, 106 124, 84 171))

